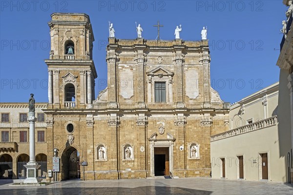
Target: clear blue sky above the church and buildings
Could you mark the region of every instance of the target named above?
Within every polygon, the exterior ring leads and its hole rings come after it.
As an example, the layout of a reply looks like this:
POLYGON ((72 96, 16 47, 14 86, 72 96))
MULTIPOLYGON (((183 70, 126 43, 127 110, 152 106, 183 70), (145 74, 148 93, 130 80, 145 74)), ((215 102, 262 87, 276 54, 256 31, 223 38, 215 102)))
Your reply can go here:
POLYGON ((135 21, 143 38, 200 40, 208 26, 211 85, 225 102, 235 102, 279 79, 275 65, 282 39, 280 29, 288 8, 281 0, 60 0, 0 1, 0 102, 26 102, 34 93, 47 102, 50 37, 47 22, 54 12, 86 13, 94 31, 96 94, 105 89, 105 47, 108 21, 117 39, 135 39, 135 21), (275 50, 276 49, 276 50, 275 50))

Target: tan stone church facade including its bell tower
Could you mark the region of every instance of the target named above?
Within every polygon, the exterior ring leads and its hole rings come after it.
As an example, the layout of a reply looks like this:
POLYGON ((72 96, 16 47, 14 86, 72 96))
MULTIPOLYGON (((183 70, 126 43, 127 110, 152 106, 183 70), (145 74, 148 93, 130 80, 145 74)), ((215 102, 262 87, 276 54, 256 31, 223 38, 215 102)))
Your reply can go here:
POLYGON ((58 180, 209 176, 210 136, 229 109, 210 86, 208 40, 108 38, 107 87, 95 97, 94 34, 86 14, 49 22, 47 169, 58 180), (56 155, 56 154, 55 154, 56 155))

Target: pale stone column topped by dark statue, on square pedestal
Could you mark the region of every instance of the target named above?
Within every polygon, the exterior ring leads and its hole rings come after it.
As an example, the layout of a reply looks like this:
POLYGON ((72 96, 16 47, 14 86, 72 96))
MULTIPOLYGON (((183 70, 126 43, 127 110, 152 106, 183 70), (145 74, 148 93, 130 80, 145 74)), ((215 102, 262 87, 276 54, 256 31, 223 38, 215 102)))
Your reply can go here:
POLYGON ((29 112, 28 112, 28 122, 29 122, 29 161, 24 165, 26 168, 26 179, 23 183, 39 183, 41 179, 38 178, 38 169, 41 167, 36 162, 35 156, 35 98, 34 94, 31 94, 29 98, 29 112))

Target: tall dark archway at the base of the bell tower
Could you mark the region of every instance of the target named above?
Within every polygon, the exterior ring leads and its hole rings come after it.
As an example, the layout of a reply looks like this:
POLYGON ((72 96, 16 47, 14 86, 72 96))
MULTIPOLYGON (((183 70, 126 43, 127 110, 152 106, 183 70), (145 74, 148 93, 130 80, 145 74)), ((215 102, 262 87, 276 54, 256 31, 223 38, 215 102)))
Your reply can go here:
POLYGON ((79 153, 70 146, 67 147, 62 154, 62 180, 80 178, 79 153))

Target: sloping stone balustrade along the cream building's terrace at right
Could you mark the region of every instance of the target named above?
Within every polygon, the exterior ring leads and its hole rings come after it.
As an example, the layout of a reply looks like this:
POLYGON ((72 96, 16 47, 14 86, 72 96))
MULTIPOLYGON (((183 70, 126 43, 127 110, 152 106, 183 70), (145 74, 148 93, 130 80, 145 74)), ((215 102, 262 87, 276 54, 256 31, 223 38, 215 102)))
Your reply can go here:
POLYGON ((216 141, 216 140, 224 139, 224 138, 227 138, 227 137, 232 137, 232 136, 237 136, 237 135, 240 135, 240 134, 245 134, 245 133, 255 131, 255 130, 258 130, 258 129, 263 129, 263 128, 266 128, 266 127, 270 127, 270 126, 273 126, 273 125, 276 125, 276 124, 277 124, 277 116, 273 116, 273 117, 270 117, 270 118, 266 118, 264 120, 260 120, 260 121, 257 121, 257 122, 254 122, 254 123, 239 127, 237 129, 232 129, 230 131, 226 131, 224 133, 211 136, 210 141, 216 141))

